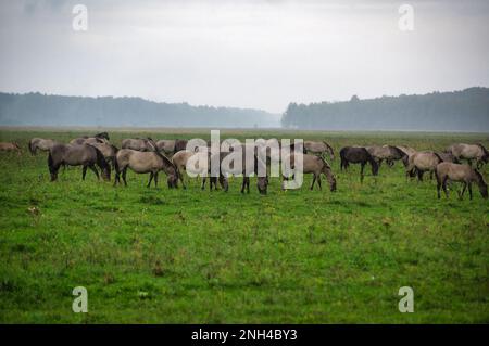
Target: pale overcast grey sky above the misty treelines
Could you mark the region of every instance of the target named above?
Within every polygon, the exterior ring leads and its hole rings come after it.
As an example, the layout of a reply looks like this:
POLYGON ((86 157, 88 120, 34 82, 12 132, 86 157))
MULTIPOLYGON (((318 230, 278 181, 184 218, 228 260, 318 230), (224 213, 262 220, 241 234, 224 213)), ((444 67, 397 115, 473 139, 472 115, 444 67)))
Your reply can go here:
POLYGON ((255 107, 489 86, 489 1, 4 1, 0 90, 255 107), (75 31, 72 9, 88 8, 75 31), (398 9, 414 8, 401 31, 398 9))

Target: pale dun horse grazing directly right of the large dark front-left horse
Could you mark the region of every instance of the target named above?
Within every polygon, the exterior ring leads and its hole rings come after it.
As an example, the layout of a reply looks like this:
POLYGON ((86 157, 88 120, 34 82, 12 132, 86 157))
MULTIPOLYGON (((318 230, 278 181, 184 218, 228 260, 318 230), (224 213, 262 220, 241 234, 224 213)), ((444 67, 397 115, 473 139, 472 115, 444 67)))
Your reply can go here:
POLYGON ((147 188, 151 185, 154 178, 154 187, 158 187, 158 174, 163 170, 167 175, 166 182, 170 189, 178 187, 178 172, 168 157, 158 151, 141 152, 131 149, 121 149, 115 155, 115 180, 114 187, 121 183, 121 172, 124 184, 127 187, 126 172, 130 168, 137 174, 150 174, 147 188))

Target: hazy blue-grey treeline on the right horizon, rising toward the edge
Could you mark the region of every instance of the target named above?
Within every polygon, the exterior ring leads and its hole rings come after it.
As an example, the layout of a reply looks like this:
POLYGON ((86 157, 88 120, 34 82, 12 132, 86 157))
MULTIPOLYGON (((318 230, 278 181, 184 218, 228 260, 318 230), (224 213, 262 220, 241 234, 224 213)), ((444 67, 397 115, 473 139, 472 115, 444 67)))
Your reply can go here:
POLYGON ((425 130, 489 132, 489 89, 347 102, 290 103, 284 127, 326 130, 425 130))

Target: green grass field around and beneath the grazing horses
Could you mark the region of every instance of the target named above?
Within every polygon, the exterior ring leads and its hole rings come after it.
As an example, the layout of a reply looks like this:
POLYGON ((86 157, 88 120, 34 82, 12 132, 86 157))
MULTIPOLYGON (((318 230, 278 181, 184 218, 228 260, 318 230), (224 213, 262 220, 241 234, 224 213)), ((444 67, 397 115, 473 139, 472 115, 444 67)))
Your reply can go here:
MULTIPOLYGON (((95 133, 96 130, 86 131, 95 133)), ((402 165, 348 174, 333 163, 338 191, 280 190, 262 196, 128 188, 80 169, 49 182, 33 137, 68 141, 82 132, 1 129, 22 155, 0 153, 0 322, 3 323, 488 323, 489 203, 436 198, 436 182, 408 181, 402 165), (35 207, 35 209, 33 209, 35 207), (30 209, 30 210, 29 210, 30 209), (34 212, 33 212, 34 210, 34 212), (74 313, 72 290, 88 290, 74 313), (401 313, 398 290, 414 290, 401 313)), ((203 138, 208 130, 110 131, 121 139, 203 138)), ((327 139, 351 144, 444 149, 487 134, 222 131, 222 138, 327 139)), ((484 168, 486 181, 489 166, 484 168)), ((323 179, 324 181, 324 179, 323 179)), ((253 183, 253 180, 252 180, 253 183)))

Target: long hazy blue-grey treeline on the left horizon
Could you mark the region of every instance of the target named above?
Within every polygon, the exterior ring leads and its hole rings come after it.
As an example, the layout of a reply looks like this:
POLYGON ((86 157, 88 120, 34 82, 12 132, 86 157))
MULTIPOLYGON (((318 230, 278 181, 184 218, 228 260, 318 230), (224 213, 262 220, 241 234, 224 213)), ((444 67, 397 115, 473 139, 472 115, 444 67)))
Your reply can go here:
POLYGON ((140 98, 0 93, 3 126, 279 127, 260 110, 158 103, 140 98))

